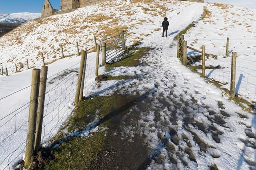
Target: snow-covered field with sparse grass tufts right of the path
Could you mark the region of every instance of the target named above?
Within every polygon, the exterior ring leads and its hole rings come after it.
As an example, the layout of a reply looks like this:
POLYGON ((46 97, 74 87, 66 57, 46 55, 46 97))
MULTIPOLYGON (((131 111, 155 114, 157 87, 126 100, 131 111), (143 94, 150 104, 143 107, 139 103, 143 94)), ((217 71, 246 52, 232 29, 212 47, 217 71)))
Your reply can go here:
MULTIPOLYGON (((184 35, 185 41, 196 49, 205 45, 206 53, 218 56, 218 59, 207 58, 206 66, 222 68, 206 69, 206 78, 220 81, 223 88, 230 90, 231 57, 225 56, 226 38, 229 37, 229 55, 237 52, 236 94, 256 102, 256 10, 233 5, 220 8, 212 3, 206 3, 206 7, 212 12, 210 18, 197 21, 196 27, 184 35)), ((188 53, 190 56, 198 54, 190 50, 188 53)))

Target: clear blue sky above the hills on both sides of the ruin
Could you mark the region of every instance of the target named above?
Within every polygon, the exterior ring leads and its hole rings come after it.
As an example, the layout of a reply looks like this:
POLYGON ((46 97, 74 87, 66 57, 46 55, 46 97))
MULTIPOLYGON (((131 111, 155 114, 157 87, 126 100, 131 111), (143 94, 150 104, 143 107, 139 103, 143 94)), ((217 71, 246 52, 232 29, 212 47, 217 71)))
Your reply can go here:
MULTIPOLYGON (((1 0, 0 13, 41 12, 44 0, 1 0)), ((206 2, 230 3, 256 8, 255 0, 205 0, 206 2)), ((50 0, 53 8, 60 8, 60 0, 50 0)))

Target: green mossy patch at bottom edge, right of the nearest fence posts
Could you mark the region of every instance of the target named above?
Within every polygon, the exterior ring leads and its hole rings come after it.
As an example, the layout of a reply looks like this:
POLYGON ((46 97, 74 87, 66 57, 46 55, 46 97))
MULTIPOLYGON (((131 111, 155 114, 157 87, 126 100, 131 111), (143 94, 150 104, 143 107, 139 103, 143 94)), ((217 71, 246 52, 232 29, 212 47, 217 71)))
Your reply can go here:
POLYGON ((54 151, 54 160, 46 165, 46 170, 81 170, 91 169, 97 162, 104 146, 105 132, 94 133, 91 137, 74 137, 54 151))

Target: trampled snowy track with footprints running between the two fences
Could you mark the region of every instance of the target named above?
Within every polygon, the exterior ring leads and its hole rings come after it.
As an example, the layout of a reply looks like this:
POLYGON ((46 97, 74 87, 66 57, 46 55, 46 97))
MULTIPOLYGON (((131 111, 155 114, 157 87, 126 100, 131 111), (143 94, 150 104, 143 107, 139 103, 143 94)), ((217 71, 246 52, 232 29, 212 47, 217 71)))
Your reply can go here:
POLYGON ((176 47, 169 47, 172 37, 152 39, 154 49, 143 58, 148 66, 134 70, 148 74, 118 87, 123 94, 146 96, 115 131, 134 152, 147 149, 146 158, 133 158, 144 160, 140 166, 137 161, 130 169, 255 169, 254 115, 180 65, 176 47))

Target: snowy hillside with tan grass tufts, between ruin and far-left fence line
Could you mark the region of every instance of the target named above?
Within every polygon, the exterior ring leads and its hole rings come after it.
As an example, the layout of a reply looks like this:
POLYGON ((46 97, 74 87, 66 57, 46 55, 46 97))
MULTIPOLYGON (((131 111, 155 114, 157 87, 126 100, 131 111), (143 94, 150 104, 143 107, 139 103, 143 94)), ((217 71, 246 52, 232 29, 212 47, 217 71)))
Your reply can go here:
POLYGON ((40 53, 44 53, 46 63, 62 57, 60 44, 63 45, 64 55, 74 55, 76 41, 80 49, 91 49, 94 46, 93 35, 99 40, 116 35, 121 30, 128 31, 126 36, 129 38, 128 45, 131 45, 133 41, 142 41, 161 29, 166 13, 169 18, 179 18, 186 14, 184 8, 176 6, 193 6, 176 0, 141 2, 143 1, 105 2, 79 8, 71 13, 29 21, 0 38, 1 66, 7 67, 10 73, 15 70, 14 63, 24 65, 26 59, 31 66, 40 66, 40 53))

